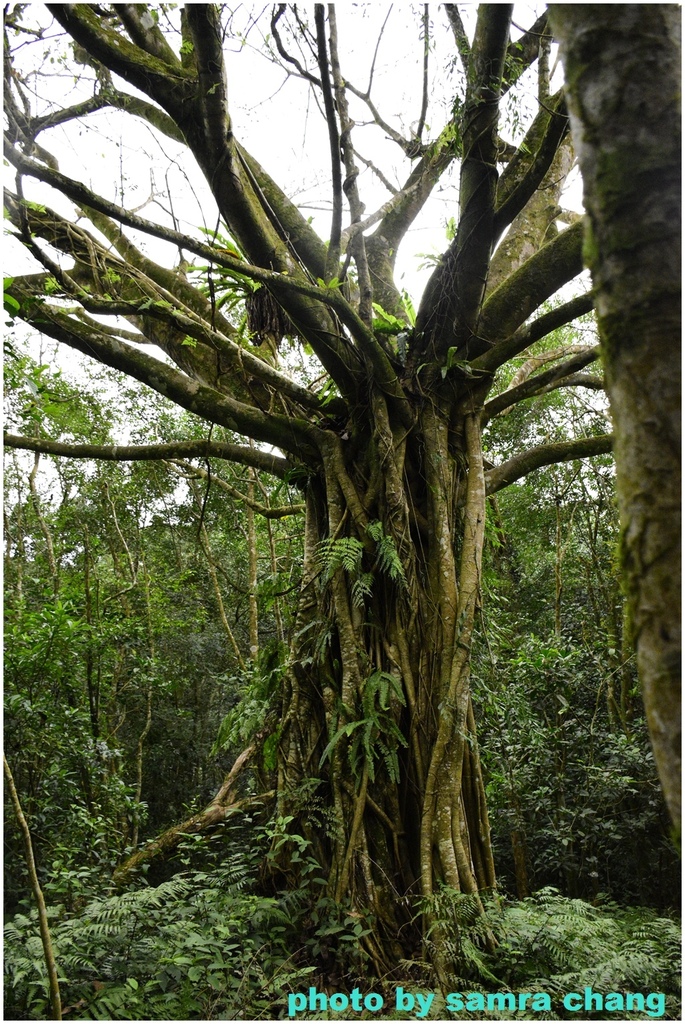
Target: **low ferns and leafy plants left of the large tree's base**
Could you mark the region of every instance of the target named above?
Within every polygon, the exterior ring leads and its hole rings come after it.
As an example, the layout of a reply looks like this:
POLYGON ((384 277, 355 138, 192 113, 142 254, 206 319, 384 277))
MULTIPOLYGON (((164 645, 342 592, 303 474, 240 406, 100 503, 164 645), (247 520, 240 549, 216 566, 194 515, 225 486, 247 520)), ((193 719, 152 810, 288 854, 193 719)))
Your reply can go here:
MULTIPOLYGON (((230 834, 226 830, 226 839, 230 834)), ((307 976, 289 951, 292 915, 252 892, 252 860, 234 849, 209 871, 52 912, 62 1000, 95 1020, 273 1019, 281 983, 307 976)), ((35 914, 5 927, 8 1017, 45 1018, 47 979, 35 914)))

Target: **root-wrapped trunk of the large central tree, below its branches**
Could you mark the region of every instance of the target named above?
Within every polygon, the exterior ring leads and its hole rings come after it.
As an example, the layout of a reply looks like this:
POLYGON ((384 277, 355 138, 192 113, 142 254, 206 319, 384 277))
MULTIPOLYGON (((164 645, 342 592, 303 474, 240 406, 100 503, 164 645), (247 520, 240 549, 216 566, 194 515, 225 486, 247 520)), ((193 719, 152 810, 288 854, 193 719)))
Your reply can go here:
POLYGON ((432 408, 422 443, 393 446, 380 400, 377 411, 366 472, 357 477, 355 462, 352 479, 339 450, 308 486, 279 795, 328 870, 329 894, 375 919, 367 945, 388 970, 416 951, 405 897, 496 880, 469 685, 485 502, 479 416, 451 438, 432 408))

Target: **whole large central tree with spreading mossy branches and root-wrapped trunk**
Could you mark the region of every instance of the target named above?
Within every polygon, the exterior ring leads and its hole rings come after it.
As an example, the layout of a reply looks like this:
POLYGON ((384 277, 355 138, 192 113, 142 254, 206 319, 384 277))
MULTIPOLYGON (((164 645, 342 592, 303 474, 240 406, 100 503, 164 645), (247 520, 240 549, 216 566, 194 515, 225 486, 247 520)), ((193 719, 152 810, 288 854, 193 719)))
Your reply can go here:
MULTIPOLYGON (((309 842, 329 895, 370 915, 363 941, 387 970, 414 948, 415 897, 429 902, 440 884, 467 893, 496 884, 470 691, 487 496, 540 466, 611 446, 602 434, 523 449, 500 464, 483 456, 488 422, 516 403, 551 388, 602 386, 584 373, 596 345, 551 337, 593 300, 581 284, 554 298, 582 272, 583 226, 559 203, 571 153, 563 94, 550 90, 547 15, 522 32, 512 5, 481 5, 471 27, 456 5, 436 12, 454 36, 457 73, 439 86, 448 117, 429 129, 426 8, 416 32, 420 117, 402 134, 371 84, 363 91, 348 78, 335 6, 316 5, 310 23, 296 8, 273 9, 273 55, 308 83, 325 120, 324 242, 237 137, 227 10, 47 9, 70 41, 80 89, 90 82, 91 91, 70 105, 29 88, 43 69, 31 67, 25 44, 39 41, 28 47, 39 61, 54 31, 17 5, 5 40, 5 156, 16 171, 5 203, 38 266, 10 283, 7 308, 230 437, 215 440, 210 428, 206 442, 138 452, 6 440, 65 456, 215 457, 298 481, 305 552, 282 693, 277 810, 309 842), (536 82, 525 131, 513 134, 527 108, 516 108, 508 129, 503 101, 536 82), (399 187, 357 152, 362 109, 396 143, 399 187), (184 147, 220 231, 183 233, 57 165, 50 132, 67 125, 76 139, 102 110, 184 147), (389 190, 372 215, 362 163, 389 190), (395 282, 397 251, 455 172, 454 237, 415 316, 395 282), (145 240, 167 243, 168 261, 154 260, 145 240), (247 334, 224 304, 241 293, 247 334), (312 383, 289 370, 285 337, 308 353, 312 383), (522 366, 511 381, 499 371, 514 359, 522 366)), ((283 867, 292 877, 293 865, 283 867)))

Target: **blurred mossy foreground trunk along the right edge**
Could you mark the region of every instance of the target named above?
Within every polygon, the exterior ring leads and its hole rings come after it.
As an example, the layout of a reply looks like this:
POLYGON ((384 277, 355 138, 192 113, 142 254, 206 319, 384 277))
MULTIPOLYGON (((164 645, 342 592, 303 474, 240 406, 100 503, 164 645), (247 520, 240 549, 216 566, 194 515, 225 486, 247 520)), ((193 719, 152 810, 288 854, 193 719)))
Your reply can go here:
POLYGON ((615 425, 623 570, 680 824, 680 8, 555 4, 615 425))

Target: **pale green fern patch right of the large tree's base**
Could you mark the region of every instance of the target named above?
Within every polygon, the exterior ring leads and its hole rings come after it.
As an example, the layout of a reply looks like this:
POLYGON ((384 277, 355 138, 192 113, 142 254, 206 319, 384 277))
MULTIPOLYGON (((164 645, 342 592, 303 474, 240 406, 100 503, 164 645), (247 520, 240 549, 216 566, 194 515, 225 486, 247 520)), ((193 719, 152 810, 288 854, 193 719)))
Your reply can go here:
POLYGON ((427 948, 456 990, 540 990, 557 999, 586 986, 663 992, 666 1017, 680 1019, 680 929, 652 910, 596 906, 551 888, 502 905, 447 886, 421 907, 432 922, 427 948), (488 935, 497 939, 495 952, 486 951, 488 935))

